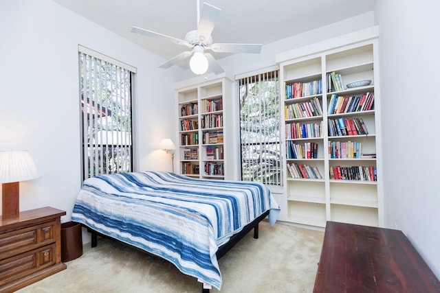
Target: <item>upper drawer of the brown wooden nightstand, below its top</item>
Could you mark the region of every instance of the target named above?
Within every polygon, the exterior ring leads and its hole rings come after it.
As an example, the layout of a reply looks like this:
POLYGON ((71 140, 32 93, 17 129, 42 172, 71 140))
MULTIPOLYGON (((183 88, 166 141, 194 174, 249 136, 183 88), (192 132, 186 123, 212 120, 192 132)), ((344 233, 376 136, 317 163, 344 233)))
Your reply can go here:
POLYGON ((55 226, 52 221, 0 235, 0 260, 55 242, 55 226))

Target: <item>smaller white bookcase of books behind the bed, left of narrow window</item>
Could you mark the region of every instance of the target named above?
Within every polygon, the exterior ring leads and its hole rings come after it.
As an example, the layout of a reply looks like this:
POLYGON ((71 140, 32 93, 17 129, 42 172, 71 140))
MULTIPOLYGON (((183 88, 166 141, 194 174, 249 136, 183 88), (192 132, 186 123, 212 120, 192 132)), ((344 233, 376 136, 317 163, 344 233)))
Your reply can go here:
POLYGON ((188 85, 177 87, 178 113, 181 113, 178 118, 178 170, 182 175, 214 179, 233 176, 232 172, 231 175, 228 174, 228 157, 225 152, 228 140, 223 136, 223 122, 228 114, 225 109, 230 106, 224 103, 223 98, 230 99, 231 84, 228 78, 223 77, 203 82, 188 82, 188 85), (186 124, 194 126, 193 128, 196 128, 197 124, 197 129, 182 130, 181 124, 185 121, 186 124))

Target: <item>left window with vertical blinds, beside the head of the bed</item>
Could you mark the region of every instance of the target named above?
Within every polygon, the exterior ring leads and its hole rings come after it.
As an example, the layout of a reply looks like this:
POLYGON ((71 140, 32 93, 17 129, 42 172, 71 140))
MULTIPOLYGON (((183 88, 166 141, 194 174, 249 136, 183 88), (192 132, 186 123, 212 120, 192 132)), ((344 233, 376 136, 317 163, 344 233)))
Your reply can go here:
POLYGON ((80 47, 83 180, 133 171, 131 78, 135 69, 96 55, 100 56, 80 47))

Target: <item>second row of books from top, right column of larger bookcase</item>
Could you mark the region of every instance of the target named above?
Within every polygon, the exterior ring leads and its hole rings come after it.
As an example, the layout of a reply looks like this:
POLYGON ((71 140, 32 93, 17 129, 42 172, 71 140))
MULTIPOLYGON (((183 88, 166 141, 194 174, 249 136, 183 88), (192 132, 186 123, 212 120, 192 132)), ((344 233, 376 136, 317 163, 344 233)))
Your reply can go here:
POLYGON ((345 95, 337 96, 333 93, 330 97, 328 113, 351 113, 366 110, 373 110, 374 95, 372 93, 364 93, 363 95, 345 95))

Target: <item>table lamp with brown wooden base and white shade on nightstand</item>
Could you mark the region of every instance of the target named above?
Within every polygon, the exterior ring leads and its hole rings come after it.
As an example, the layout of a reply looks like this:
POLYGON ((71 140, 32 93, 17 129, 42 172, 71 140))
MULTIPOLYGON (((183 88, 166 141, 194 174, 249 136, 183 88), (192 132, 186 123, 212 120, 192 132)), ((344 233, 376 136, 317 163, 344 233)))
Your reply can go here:
POLYGON ((0 152, 1 218, 18 218, 20 213, 20 181, 39 178, 39 172, 29 152, 0 152))

